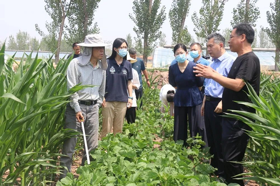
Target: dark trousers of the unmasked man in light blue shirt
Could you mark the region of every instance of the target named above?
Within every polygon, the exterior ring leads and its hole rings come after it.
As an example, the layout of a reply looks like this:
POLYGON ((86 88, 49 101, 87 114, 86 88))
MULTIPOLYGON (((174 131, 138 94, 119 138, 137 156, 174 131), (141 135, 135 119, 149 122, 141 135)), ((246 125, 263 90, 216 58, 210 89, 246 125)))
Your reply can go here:
POLYGON ((220 101, 206 101, 204 106, 204 122, 207 134, 208 146, 210 153, 214 155, 211 159, 210 165, 217 168, 216 175, 225 177, 223 175, 223 157, 221 148, 221 121, 222 113, 214 112, 220 101))

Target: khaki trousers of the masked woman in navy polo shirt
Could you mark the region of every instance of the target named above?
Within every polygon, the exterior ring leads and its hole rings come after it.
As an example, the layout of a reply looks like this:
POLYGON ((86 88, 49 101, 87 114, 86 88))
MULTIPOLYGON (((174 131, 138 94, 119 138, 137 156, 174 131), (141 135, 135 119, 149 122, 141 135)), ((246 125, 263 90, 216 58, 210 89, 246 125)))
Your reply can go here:
POLYGON ((112 127, 114 135, 123 132, 123 123, 126 109, 126 102, 106 102, 106 106, 102 107, 101 138, 110 133, 112 127))

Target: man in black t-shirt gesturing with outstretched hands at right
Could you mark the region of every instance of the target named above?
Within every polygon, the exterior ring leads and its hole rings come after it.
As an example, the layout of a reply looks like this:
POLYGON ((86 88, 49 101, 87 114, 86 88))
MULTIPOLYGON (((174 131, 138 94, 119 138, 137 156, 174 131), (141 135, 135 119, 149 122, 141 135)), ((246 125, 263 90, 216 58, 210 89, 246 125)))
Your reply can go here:
MULTIPOLYGON (((197 76, 211 78, 225 87, 222 93, 222 111, 240 110, 255 113, 254 108, 247 107, 236 101, 250 102, 245 81, 253 86, 259 95, 260 91, 260 60, 251 49, 254 41, 254 29, 248 23, 237 24, 230 35, 229 46, 238 57, 234 61, 228 77, 224 77, 212 68, 202 65, 194 67, 197 76)), ((232 118, 222 118, 222 153, 226 181, 244 185, 243 180, 234 179, 235 175, 243 173, 240 162, 243 160, 248 143, 248 135, 244 130, 251 130, 244 122, 232 118)))

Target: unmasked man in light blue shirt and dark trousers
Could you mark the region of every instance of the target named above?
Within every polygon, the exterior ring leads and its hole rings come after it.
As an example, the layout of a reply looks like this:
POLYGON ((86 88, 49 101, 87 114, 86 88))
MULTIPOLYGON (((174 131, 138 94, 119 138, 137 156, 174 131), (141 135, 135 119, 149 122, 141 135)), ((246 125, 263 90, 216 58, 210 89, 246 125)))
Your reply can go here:
MULTIPOLYGON (((227 77, 235 58, 225 50, 225 38, 218 33, 212 33, 207 37, 207 50, 212 57, 210 67, 219 74, 227 77)), ((221 112, 223 86, 213 79, 205 80, 205 96, 201 108, 204 115, 205 128, 210 153, 214 155, 211 165, 218 170, 215 172, 219 177, 225 177, 223 169, 223 156, 221 147, 221 112)))

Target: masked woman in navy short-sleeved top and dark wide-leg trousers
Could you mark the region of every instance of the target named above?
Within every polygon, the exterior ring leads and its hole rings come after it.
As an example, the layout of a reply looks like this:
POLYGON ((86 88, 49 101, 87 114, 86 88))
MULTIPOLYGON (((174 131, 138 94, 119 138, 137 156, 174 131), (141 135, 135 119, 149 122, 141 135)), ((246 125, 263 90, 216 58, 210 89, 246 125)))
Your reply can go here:
MULTIPOLYGON (((187 48, 183 44, 174 47, 177 64, 169 67, 169 83, 177 89, 174 97, 174 141, 187 139, 187 121, 190 136, 197 134, 206 142, 207 137, 203 117, 201 116, 202 95, 199 87, 204 79, 193 73, 195 63, 187 60, 187 48)), ((186 145, 186 144, 185 144, 186 145)))

